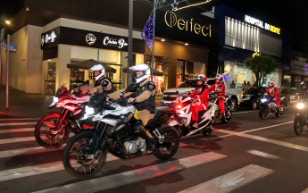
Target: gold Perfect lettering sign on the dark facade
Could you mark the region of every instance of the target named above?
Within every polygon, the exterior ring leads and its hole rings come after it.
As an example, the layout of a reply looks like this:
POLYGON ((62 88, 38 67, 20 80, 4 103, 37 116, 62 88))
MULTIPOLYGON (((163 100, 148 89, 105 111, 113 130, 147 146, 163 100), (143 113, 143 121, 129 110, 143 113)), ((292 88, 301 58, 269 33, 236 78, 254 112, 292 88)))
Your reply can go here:
POLYGON ((178 27, 180 30, 190 31, 196 34, 202 34, 204 36, 211 37, 211 24, 209 26, 203 25, 194 22, 194 18, 191 18, 190 21, 186 21, 182 18, 177 17, 174 12, 168 11, 164 15, 164 21, 167 26, 170 28, 178 27))

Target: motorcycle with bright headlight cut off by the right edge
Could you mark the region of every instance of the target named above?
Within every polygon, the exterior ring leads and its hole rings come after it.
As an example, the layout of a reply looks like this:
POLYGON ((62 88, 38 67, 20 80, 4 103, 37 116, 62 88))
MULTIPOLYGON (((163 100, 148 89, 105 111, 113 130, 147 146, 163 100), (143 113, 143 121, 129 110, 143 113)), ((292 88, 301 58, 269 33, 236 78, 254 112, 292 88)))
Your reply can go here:
MULTIPOLYGON (((306 101, 307 104, 307 101, 306 101)), ((307 125, 307 119, 304 119, 304 116, 307 116, 306 113, 304 113, 304 101, 298 103, 296 105, 296 117, 294 118, 294 123, 293 123, 293 128, 294 131, 296 132, 296 135, 301 135, 303 132, 303 127, 304 125, 307 125)))

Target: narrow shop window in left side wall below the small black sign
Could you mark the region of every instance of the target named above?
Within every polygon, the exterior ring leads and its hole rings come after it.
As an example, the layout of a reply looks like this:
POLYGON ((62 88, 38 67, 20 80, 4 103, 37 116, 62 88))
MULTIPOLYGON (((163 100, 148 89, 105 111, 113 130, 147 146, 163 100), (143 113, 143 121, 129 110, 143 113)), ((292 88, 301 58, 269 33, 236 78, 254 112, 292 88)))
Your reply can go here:
POLYGON ((46 66, 46 79, 45 79, 45 93, 53 95, 55 93, 55 69, 56 63, 47 62, 46 66))

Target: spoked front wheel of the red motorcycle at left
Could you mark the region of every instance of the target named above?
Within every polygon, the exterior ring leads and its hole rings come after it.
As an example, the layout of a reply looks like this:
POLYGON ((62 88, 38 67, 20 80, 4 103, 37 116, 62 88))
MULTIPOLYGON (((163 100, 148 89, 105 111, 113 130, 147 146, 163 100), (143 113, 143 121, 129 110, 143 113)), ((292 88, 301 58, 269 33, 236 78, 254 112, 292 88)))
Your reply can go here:
POLYGON ((70 135, 70 122, 63 121, 61 130, 55 130, 60 114, 47 114, 37 122, 34 136, 37 143, 46 148, 61 147, 70 135))

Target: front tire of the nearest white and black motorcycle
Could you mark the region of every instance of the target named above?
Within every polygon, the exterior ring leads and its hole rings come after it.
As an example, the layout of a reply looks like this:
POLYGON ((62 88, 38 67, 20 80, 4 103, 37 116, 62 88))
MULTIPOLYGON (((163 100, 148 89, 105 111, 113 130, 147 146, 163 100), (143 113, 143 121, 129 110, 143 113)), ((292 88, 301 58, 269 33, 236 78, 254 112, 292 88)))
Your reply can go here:
POLYGON ((107 147, 100 147, 91 159, 85 157, 92 146, 95 131, 82 131, 73 136, 63 150, 63 165, 72 177, 85 179, 99 172, 105 164, 107 147), (87 144, 89 143, 89 144, 87 144), (98 152, 99 151, 99 152, 98 152), (98 160, 98 162, 96 162, 98 160), (72 166, 70 161, 75 161, 79 166, 72 166), (92 165, 94 163, 94 165, 92 165))

